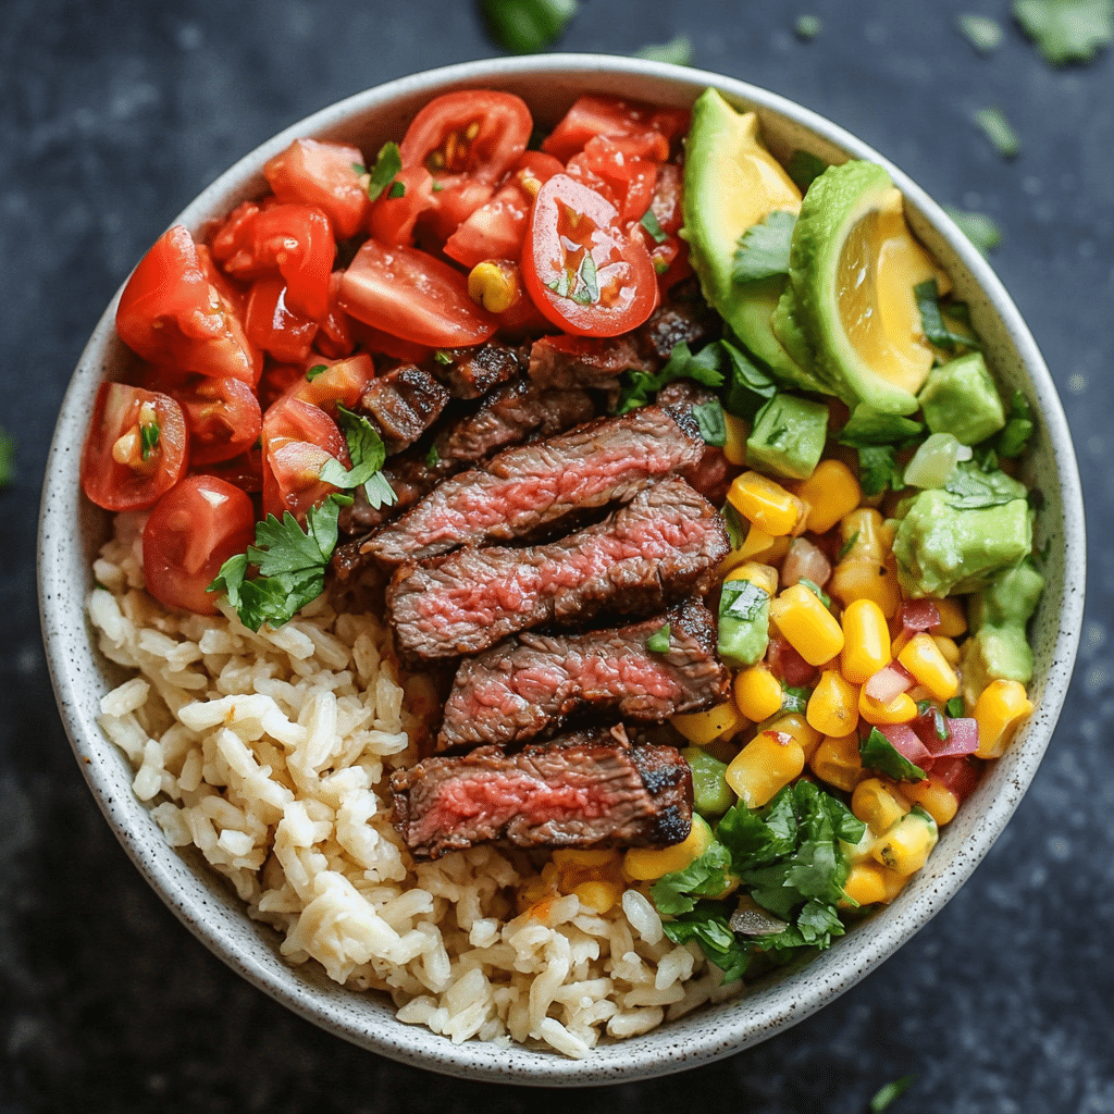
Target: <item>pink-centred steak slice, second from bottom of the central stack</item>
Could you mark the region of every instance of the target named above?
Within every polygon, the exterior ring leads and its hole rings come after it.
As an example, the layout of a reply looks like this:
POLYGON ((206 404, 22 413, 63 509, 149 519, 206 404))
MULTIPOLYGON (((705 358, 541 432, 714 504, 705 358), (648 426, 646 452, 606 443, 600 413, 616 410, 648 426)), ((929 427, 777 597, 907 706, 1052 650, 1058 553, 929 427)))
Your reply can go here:
POLYGON ((437 747, 524 743, 588 707, 638 723, 700 711, 729 691, 715 646, 696 599, 617 629, 508 638, 460 664, 437 747), (666 624, 668 648, 648 649, 666 624))

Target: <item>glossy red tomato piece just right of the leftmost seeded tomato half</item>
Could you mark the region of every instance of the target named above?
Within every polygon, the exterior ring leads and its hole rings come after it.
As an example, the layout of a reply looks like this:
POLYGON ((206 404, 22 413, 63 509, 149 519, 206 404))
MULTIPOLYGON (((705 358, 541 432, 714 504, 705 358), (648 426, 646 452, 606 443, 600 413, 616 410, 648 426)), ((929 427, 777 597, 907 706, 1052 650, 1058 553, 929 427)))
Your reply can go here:
POLYGON ((243 380, 163 375, 152 385, 182 407, 189 432, 192 467, 238 457, 260 436, 260 403, 243 380))

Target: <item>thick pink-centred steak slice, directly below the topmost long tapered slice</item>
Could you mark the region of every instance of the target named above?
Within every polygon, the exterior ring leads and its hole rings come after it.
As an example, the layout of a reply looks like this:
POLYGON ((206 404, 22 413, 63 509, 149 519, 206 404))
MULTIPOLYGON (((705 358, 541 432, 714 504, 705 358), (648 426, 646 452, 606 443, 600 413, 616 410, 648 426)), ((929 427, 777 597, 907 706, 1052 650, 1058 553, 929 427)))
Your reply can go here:
POLYGON ((730 548, 715 508, 671 477, 558 541, 408 564, 387 588, 388 615, 410 657, 476 654, 543 623, 646 615, 703 595, 730 548))

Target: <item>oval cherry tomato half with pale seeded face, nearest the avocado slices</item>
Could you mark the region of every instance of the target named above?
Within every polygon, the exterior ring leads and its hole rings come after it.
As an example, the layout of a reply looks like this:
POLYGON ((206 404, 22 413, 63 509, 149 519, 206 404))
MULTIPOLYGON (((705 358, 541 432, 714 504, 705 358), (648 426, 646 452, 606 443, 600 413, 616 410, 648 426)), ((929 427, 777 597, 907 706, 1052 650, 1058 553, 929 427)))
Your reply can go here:
POLYGON ((657 276, 641 235, 618 224, 615 206, 566 174, 534 203, 522 276, 554 324, 580 336, 618 336, 657 305, 657 276))

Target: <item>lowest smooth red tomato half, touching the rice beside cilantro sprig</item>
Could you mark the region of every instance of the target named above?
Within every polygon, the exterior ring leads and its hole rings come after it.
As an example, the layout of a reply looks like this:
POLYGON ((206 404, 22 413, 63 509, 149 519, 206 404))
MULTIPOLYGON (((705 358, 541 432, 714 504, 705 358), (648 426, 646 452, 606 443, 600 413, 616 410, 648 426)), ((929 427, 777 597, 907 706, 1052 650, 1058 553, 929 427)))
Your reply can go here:
POLYGON ((155 504, 144 527, 147 590, 167 607, 215 615, 219 595, 205 589, 254 540, 255 508, 244 491, 213 476, 187 476, 155 504))

